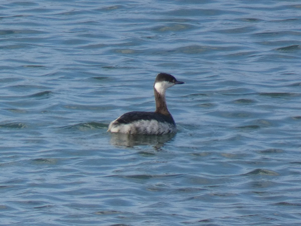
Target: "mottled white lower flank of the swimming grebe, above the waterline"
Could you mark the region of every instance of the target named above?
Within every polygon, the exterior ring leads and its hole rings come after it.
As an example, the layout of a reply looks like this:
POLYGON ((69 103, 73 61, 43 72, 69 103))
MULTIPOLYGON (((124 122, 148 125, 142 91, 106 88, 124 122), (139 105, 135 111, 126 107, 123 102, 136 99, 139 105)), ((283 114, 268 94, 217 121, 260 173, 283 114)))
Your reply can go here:
POLYGON ((177 131, 174 124, 159 122, 157 120, 138 120, 129 124, 115 122, 116 120, 112 121, 109 125, 108 131, 111 133, 160 135, 175 133, 177 131))

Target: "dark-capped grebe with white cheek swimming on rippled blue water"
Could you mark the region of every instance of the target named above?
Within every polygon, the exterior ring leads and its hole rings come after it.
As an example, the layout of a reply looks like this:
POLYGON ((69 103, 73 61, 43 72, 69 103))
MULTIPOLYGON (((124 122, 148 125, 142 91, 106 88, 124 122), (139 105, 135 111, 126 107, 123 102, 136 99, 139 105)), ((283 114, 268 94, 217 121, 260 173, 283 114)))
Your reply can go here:
POLYGON ((177 127, 169 113, 165 100, 165 90, 175 84, 183 84, 170 74, 160 73, 154 83, 156 111, 131 111, 121 115, 109 124, 112 133, 161 135, 175 133, 177 127))

